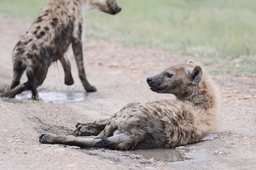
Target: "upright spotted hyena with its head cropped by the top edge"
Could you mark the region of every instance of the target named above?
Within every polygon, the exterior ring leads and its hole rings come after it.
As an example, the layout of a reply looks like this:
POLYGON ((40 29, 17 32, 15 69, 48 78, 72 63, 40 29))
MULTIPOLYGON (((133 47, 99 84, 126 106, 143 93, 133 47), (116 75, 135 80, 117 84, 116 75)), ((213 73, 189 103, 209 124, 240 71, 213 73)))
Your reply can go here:
POLYGON ((70 72, 70 62, 65 52, 73 47, 80 80, 85 90, 96 91, 85 76, 82 58, 82 11, 98 9, 110 14, 121 11, 115 0, 48 0, 31 28, 21 37, 12 55, 14 77, 11 91, 2 97, 14 97, 25 90, 32 91, 32 98, 39 99, 37 87, 46 79, 48 67, 60 60, 65 72, 65 84, 74 83, 70 72), (20 84, 26 70, 28 81, 20 84), (20 85, 19 85, 20 84, 20 85))

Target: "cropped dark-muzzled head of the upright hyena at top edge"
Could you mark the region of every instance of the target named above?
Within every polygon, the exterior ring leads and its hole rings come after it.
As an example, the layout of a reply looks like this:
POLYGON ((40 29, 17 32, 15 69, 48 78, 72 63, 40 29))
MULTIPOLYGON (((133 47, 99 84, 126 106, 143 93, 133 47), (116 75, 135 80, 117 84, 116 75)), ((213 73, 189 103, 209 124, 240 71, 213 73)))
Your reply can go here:
MULTIPOLYGON (((84 0, 86 1, 86 0, 84 0)), ((96 8, 105 13, 112 15, 119 13, 122 8, 117 4, 115 0, 87 0, 92 8, 96 8)))

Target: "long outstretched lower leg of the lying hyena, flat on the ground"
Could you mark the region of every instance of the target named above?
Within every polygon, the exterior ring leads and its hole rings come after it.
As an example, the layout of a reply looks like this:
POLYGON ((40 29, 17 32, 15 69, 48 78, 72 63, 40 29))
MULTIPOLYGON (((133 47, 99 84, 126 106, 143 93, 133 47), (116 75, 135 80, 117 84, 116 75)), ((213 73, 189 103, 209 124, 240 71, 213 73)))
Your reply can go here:
POLYGON ((115 149, 115 146, 127 139, 127 135, 115 135, 112 137, 102 136, 101 138, 82 138, 75 136, 63 136, 53 134, 42 134, 39 137, 39 142, 43 144, 62 144, 78 147, 105 147, 115 149))

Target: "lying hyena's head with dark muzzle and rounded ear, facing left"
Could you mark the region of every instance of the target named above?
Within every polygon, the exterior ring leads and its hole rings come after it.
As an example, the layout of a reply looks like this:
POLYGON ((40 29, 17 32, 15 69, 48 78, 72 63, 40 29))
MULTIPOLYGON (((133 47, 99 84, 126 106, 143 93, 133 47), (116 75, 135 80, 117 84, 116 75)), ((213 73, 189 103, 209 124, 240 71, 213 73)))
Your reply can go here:
POLYGON ((195 62, 188 61, 187 64, 178 64, 154 77, 148 77, 146 82, 156 93, 180 96, 181 93, 194 89, 193 86, 199 84, 202 79, 203 69, 195 62))

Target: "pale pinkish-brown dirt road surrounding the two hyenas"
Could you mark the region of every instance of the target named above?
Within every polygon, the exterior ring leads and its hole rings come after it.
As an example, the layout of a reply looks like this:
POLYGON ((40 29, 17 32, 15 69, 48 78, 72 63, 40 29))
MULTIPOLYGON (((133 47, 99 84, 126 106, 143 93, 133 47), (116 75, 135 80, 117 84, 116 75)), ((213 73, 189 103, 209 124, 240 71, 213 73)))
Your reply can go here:
MULTIPOLYGON (((0 16, 0 93, 11 84, 11 52, 30 24, 0 16)), ((214 140, 176 149, 149 150, 146 154, 41 145, 38 142, 41 132, 68 135, 76 123, 110 118, 129 102, 174 98, 150 91, 146 77, 188 60, 161 50, 127 48, 102 40, 85 40, 83 51, 87 77, 97 87, 97 92, 85 93, 71 50, 67 56, 75 84, 64 85, 63 69, 57 63, 50 66, 46 80, 38 88, 39 95, 48 92, 80 93, 82 101, 46 103, 29 99, 0 99, 0 169, 255 169, 254 76, 213 76, 220 87, 223 103, 220 128, 210 137, 214 140), (171 161, 164 162, 166 157, 172 157, 171 161)), ((22 81, 26 81, 26 77, 22 81)))

